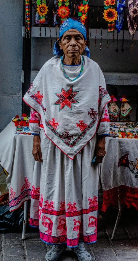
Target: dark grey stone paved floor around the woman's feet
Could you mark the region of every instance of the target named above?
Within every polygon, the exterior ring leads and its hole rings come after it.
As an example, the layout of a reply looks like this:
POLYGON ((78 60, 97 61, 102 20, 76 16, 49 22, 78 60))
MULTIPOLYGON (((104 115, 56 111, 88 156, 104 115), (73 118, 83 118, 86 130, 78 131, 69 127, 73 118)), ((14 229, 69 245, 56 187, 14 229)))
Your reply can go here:
MULTIPOLYGON (((117 210, 109 209, 98 220, 97 243, 86 245, 93 260, 97 261, 138 261, 138 211, 130 208, 123 210, 115 240, 111 235, 117 216, 117 210)), ((44 261, 46 251, 50 246, 44 244, 38 230, 26 233, 25 240, 21 240, 21 233, 1 234, 0 261, 44 261), (34 232, 36 231, 36 232, 34 232)), ((64 251, 59 261, 77 261, 71 249, 64 251)))

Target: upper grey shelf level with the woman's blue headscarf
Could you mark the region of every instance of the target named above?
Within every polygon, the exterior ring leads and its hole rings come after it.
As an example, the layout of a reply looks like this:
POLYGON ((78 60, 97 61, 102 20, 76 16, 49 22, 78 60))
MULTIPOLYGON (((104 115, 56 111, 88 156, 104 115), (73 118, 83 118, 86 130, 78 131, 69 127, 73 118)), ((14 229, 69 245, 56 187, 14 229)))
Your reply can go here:
MULTIPOLYGON (((89 34, 90 34, 91 29, 89 29, 89 34)), ((96 29, 92 29, 91 32, 91 39, 95 39, 95 34, 96 34, 96 29)), ((25 35, 25 27, 23 26, 23 31, 22 31, 22 35, 24 37, 25 35)), ((45 27, 41 27, 41 37, 45 37, 45 27)), ((51 27, 51 36, 56 37, 56 28, 55 27, 51 27)), ((125 30, 124 31, 124 40, 127 40, 127 36, 128 36, 128 31, 125 30)), ((32 26, 32 37, 39 37, 39 26, 32 26)), ((50 31, 49 31, 49 27, 46 27, 46 38, 50 37, 50 31)), ((130 39, 132 38, 132 36, 130 35, 130 39)), ((101 29, 97 29, 97 39, 101 39, 101 29)), ((102 39, 107 39, 107 29, 102 29, 102 39)), ((108 39, 109 40, 113 40, 113 34, 108 34, 108 39)), ((117 39, 117 30, 115 30, 115 39, 117 39)), ((120 33, 118 34, 118 40, 122 40, 123 39, 123 31, 121 30, 120 33)), ((136 31, 136 40, 138 40, 138 31, 136 31)))

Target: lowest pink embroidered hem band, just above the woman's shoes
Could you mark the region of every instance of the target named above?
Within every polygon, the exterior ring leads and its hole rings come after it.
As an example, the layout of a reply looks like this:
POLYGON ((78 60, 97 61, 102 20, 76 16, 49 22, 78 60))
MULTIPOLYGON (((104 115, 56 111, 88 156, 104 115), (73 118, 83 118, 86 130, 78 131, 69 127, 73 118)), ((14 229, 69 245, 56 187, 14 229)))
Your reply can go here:
MULTIPOLYGON (((53 237, 51 235, 47 235, 45 233, 42 233, 40 231, 40 238, 43 240, 45 243, 49 244, 61 244, 61 243, 67 243, 68 247, 75 247, 78 245, 78 238, 72 238, 69 239, 66 237, 66 235, 61 235, 59 237, 53 237)), ((97 239, 97 233, 94 233, 93 235, 88 235, 88 236, 83 236, 83 241, 84 243, 93 243, 97 239)))

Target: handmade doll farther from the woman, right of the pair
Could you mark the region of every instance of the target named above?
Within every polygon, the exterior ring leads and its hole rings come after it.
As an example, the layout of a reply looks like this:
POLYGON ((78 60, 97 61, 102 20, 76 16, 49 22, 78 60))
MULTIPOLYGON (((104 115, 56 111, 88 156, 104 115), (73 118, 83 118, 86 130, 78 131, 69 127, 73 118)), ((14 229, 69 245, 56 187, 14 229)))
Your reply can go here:
POLYGON ((119 120, 120 121, 130 121, 130 112, 132 111, 131 106, 129 105, 127 100, 126 95, 123 95, 122 98, 120 99, 121 101, 121 108, 120 108, 120 116, 119 116, 119 120))

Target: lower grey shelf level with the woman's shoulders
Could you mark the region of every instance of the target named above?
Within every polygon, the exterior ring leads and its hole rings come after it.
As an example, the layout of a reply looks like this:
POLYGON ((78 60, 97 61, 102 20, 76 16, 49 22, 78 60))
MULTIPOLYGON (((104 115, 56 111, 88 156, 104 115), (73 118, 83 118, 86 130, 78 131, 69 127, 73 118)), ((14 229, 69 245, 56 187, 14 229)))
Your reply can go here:
MULTIPOLYGON (((39 71, 31 71, 31 83, 39 71)), ((106 84, 111 85, 136 85, 138 86, 138 73, 103 73, 106 84)), ((24 82, 24 71, 22 71, 22 83, 24 82)))

